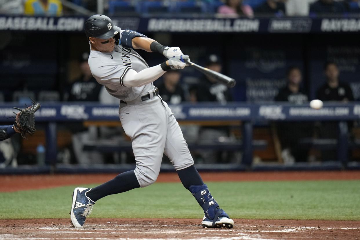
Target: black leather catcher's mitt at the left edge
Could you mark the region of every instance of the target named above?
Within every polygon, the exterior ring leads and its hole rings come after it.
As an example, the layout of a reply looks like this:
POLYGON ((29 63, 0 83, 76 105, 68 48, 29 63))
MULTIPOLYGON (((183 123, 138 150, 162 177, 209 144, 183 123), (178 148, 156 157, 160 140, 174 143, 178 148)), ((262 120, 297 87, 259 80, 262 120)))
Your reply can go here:
MULTIPOLYGON (((32 99, 31 99, 32 100, 32 99)), ((15 108, 15 107, 14 107, 15 108)), ((25 133, 33 135, 36 131, 35 129, 35 112, 40 108, 40 103, 35 103, 32 100, 32 105, 25 109, 15 108, 19 110, 19 113, 15 113, 14 127, 21 132, 21 136, 25 137, 25 133)))

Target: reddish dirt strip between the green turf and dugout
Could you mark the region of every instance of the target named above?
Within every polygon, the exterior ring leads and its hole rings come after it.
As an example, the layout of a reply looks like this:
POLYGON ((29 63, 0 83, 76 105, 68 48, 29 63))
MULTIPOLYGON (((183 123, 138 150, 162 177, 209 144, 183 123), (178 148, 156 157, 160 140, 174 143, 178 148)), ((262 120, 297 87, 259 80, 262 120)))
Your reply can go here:
MULTIPOLYGON (((313 172, 201 172, 209 181, 294 181, 294 180, 359 180, 360 171, 313 172)), ((0 192, 42 189, 67 185, 98 184, 116 174, 0 175, 0 192)), ((176 173, 160 173, 157 182, 180 182, 176 173)))

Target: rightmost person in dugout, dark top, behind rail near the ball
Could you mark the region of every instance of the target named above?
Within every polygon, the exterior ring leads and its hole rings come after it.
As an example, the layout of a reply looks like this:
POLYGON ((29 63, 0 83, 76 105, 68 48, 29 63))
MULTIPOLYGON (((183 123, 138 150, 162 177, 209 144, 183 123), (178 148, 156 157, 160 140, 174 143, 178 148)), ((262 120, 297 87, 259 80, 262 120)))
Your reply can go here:
MULTIPOLYGON (((324 65, 324 73, 327 82, 316 92, 316 98, 322 101, 354 101, 354 96, 349 85, 339 82, 339 68, 335 62, 327 62, 324 65)), ((348 123, 350 129, 352 123, 348 123)), ((326 139, 337 139, 338 123, 322 122, 319 128, 319 137, 326 139)), ((323 160, 337 160, 336 150, 321 152, 323 160)))

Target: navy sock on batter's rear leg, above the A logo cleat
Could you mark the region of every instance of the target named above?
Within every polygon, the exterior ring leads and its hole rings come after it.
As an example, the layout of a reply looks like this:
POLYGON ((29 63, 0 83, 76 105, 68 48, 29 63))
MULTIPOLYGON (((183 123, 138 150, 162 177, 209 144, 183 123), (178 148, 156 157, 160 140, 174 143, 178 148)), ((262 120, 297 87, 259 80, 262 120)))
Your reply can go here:
POLYGON ((97 201, 104 196, 123 193, 138 187, 140 187, 140 185, 135 172, 128 171, 120 173, 112 180, 100 186, 94 187, 86 193, 86 196, 93 201, 97 201))

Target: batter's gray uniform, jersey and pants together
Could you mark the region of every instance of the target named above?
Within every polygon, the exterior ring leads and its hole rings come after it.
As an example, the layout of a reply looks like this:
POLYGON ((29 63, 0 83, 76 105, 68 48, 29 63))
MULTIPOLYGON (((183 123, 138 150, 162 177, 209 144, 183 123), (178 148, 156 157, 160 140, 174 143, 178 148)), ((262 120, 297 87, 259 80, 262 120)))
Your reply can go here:
POLYGON ((146 101, 129 104, 154 89, 152 82, 141 87, 123 84, 129 69, 140 72, 149 67, 138 53, 121 45, 115 46, 111 53, 92 50, 89 65, 96 81, 104 85, 109 94, 127 102, 120 103, 119 117, 126 135, 131 139, 136 161, 134 172, 141 187, 156 181, 163 153, 176 170, 194 164, 179 124, 160 96, 151 94, 146 101))

